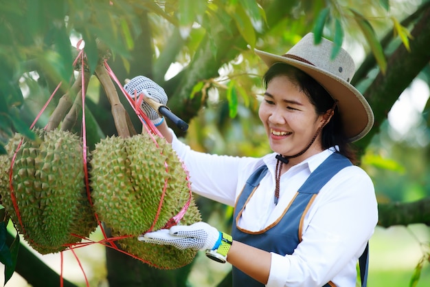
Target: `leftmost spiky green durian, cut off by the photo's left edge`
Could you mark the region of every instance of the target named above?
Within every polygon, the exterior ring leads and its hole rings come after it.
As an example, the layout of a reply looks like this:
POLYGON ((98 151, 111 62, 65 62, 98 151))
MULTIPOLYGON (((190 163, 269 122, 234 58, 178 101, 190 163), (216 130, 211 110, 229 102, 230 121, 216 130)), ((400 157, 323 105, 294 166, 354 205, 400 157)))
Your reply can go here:
POLYGON ((97 222, 85 189, 80 138, 59 129, 34 131, 38 140, 16 134, 6 145, 1 201, 32 248, 41 254, 56 253, 81 241, 73 234, 88 237, 97 222), (17 211, 9 180, 15 151, 12 190, 17 211))

